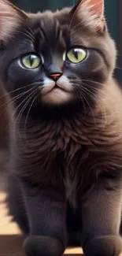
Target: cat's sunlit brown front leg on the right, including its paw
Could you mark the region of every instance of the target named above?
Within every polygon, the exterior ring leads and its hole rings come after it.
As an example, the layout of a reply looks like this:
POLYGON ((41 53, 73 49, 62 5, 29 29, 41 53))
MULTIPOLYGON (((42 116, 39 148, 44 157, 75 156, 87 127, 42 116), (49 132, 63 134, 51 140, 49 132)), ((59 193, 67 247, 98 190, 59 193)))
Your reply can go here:
POLYGON ((101 177, 89 198, 83 202, 83 252, 86 256, 118 256, 122 180, 101 177))

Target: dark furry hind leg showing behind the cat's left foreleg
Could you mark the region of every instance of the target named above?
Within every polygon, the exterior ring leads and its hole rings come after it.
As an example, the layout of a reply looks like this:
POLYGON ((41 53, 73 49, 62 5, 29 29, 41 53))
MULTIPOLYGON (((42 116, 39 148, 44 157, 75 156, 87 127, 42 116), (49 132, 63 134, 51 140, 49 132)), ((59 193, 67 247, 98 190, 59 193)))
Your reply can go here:
POLYGON ((16 177, 10 175, 7 179, 7 206, 9 207, 9 214, 13 216, 13 221, 16 221, 21 231, 28 236, 28 216, 24 205, 24 198, 20 185, 16 177))

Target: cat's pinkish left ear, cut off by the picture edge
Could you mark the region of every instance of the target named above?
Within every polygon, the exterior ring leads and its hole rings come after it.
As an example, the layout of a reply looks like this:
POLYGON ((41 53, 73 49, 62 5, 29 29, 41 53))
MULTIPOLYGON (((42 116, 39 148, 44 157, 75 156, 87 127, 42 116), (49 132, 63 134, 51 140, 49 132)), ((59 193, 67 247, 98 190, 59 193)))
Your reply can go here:
POLYGON ((13 35, 20 26, 26 14, 6 0, 0 0, 0 41, 5 41, 13 35))

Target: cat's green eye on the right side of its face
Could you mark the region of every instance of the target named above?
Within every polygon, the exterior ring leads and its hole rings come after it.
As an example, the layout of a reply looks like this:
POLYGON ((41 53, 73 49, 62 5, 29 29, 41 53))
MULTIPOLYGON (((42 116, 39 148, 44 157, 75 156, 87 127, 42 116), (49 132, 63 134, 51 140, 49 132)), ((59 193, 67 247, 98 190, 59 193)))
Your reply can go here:
POLYGON ((67 58, 72 63, 79 63, 87 57, 87 51, 83 48, 73 48, 68 51, 67 58))

